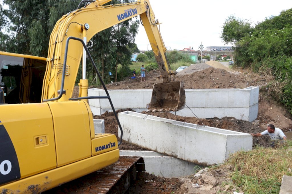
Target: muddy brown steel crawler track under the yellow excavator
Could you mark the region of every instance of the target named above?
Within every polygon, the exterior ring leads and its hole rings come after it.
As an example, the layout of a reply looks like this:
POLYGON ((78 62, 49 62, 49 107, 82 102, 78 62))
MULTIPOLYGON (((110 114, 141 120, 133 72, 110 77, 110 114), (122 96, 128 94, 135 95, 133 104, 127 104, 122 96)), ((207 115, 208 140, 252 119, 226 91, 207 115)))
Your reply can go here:
POLYGON ((142 157, 120 156, 113 165, 43 193, 125 193, 133 181, 144 177, 142 157))

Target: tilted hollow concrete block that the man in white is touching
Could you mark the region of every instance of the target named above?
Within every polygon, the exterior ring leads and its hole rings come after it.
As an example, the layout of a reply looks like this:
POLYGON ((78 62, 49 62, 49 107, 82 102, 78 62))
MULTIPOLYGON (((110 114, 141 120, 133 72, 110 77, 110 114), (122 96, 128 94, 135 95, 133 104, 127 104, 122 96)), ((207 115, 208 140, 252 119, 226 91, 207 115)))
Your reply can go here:
POLYGON ((119 113, 119 120, 123 140, 199 165, 223 163, 231 153, 252 149, 252 136, 247 133, 131 111, 119 113))

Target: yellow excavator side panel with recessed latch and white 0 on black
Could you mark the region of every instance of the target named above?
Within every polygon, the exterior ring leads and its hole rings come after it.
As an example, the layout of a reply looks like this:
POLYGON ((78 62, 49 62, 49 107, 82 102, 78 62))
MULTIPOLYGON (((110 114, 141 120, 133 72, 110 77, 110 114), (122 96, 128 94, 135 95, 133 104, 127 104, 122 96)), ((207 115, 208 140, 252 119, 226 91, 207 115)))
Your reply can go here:
POLYGON ((55 168, 53 121, 48 105, 1 105, 0 148, 0 185, 55 168))

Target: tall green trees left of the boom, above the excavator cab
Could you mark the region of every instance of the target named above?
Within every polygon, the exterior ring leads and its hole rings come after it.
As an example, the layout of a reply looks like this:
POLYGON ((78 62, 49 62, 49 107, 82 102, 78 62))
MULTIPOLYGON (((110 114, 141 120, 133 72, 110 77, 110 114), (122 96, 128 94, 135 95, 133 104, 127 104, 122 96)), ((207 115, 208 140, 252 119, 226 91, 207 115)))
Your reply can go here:
POLYGON ((48 42, 56 21, 74 10, 78 0, 4 0, 9 6, 4 15, 8 18, 9 38, 7 52, 47 57, 48 42), (9 45, 15 46, 9 46, 9 45))

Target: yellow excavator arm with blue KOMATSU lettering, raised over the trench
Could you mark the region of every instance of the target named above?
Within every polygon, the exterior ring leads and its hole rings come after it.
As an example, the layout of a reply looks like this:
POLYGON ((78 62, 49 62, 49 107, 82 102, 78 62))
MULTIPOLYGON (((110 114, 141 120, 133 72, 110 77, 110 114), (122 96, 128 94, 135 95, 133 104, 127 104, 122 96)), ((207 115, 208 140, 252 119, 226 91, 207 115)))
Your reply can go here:
MULTIPOLYGON (((165 54, 166 48, 157 27, 159 23, 157 20, 155 20, 154 13, 148 0, 107 6, 103 5, 108 3, 109 0, 85 2, 86 6, 74 10, 58 20, 53 29, 53 32, 51 33, 46 73, 43 83, 42 101, 56 98, 60 94, 63 68, 65 68, 65 81, 64 89, 62 91, 62 98, 53 101, 68 101, 72 96, 79 64, 83 53, 83 46, 80 42, 73 40, 69 43, 67 65, 64 67, 63 61, 67 38, 72 36, 83 39, 85 40, 84 42, 88 42, 96 33, 138 15, 140 15, 142 23, 145 27, 150 45, 163 77, 163 82, 171 82, 171 75, 175 74, 175 72, 171 70, 167 61, 165 54), (91 3, 88 4, 88 2, 91 3)), ((84 59, 85 57, 83 57, 83 60, 84 59)), ((85 63, 83 64, 85 65, 85 63)), ((85 70, 84 65, 83 72, 85 70)), ((83 73, 83 75, 83 79, 80 80, 79 85, 81 86, 81 90, 85 92, 79 91, 81 92, 79 94, 80 97, 87 96, 88 81, 85 80, 85 73, 83 73)), ((177 84, 175 85, 176 89, 174 90, 177 95, 175 95, 175 99, 171 99, 171 101, 183 101, 184 105, 184 99, 180 100, 178 97, 178 95, 181 93, 179 91, 183 88, 181 84, 179 84, 179 88, 177 90, 177 84)), ((172 86, 170 88, 173 90, 172 86)), ((158 99, 156 95, 157 93, 159 93, 159 91, 155 92, 155 99, 158 99)), ((169 91, 167 91, 167 93, 169 93, 169 91)), ((185 97, 183 96, 183 98, 185 97)), ((158 101, 160 104, 159 106, 161 107, 161 98, 159 98, 158 101)), ((162 99, 162 101, 165 100, 162 99)), ((175 109, 179 110, 177 107, 175 109)))

